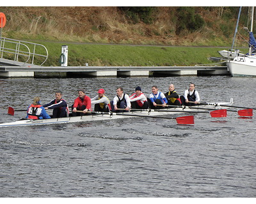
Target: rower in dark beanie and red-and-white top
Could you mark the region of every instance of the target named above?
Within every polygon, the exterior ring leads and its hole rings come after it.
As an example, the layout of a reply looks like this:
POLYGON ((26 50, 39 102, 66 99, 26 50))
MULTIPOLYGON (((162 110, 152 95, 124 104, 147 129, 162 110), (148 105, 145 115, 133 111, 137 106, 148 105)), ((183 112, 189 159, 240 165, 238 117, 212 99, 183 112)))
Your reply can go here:
POLYGON ((147 97, 141 92, 141 87, 135 88, 135 93, 130 96, 131 106, 136 109, 147 109, 147 97))

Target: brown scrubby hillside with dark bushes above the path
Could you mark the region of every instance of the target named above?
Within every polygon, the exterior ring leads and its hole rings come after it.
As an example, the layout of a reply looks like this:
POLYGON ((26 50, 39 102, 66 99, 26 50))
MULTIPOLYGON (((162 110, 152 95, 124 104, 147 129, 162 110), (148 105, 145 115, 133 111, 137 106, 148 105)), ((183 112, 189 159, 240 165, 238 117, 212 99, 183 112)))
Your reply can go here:
MULTIPOLYGON (((243 8, 241 24, 246 24, 243 8)), ((238 7, 0 7, 20 40, 230 46, 238 7)), ((244 35, 245 32, 241 31, 244 35)))

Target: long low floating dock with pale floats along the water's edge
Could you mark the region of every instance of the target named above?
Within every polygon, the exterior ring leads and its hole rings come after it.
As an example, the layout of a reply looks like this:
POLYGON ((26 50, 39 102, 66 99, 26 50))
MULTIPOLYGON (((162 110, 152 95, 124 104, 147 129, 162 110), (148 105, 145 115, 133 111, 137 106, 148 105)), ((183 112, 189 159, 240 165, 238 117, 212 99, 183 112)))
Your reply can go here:
POLYGON ((0 77, 171 77, 230 75, 227 66, 0 66, 0 77))

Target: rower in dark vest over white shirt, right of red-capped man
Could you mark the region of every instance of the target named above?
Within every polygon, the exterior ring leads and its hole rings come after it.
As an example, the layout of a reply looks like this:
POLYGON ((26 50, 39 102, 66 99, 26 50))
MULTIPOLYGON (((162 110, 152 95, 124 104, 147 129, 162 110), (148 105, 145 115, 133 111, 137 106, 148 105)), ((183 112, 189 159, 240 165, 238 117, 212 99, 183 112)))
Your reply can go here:
POLYGON ((113 101, 110 102, 112 112, 127 112, 131 108, 131 101, 128 94, 124 93, 122 87, 116 89, 116 96, 113 98, 113 101), (125 110, 118 110, 125 109, 125 110))

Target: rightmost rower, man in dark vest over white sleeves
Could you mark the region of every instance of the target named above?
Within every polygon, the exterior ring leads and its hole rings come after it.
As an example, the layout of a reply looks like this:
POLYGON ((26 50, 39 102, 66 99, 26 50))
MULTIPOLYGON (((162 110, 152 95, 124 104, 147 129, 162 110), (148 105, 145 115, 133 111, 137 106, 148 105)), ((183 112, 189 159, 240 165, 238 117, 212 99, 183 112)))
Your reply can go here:
POLYGON ((200 96, 198 94, 198 91, 195 90, 195 84, 190 83, 189 89, 187 89, 184 92, 184 96, 180 96, 180 100, 182 102, 182 105, 186 105, 186 106, 198 105, 200 101, 200 96), (189 103, 189 101, 193 101, 195 103, 189 103))

